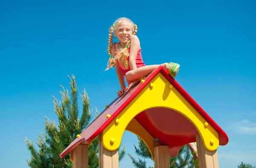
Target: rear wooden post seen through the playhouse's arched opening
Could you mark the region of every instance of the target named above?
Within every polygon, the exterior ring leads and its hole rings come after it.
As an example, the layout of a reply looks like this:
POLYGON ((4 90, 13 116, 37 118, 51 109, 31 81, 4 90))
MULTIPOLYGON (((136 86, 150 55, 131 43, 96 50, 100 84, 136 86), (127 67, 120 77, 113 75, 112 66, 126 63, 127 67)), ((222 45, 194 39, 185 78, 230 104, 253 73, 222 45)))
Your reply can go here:
POLYGON ((169 147, 154 147, 155 168, 170 168, 169 147))

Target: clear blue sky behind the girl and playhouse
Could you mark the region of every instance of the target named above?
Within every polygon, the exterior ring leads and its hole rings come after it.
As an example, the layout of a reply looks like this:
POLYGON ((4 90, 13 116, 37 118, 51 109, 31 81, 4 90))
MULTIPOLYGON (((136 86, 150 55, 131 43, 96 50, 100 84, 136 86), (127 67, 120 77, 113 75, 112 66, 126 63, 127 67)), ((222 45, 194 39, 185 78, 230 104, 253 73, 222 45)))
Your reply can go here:
MULTIPOLYGON (((79 93, 86 90, 93 112, 116 98, 115 70, 104 70, 118 17, 137 24, 145 64, 181 65, 176 80, 229 136, 218 148, 220 167, 256 165, 256 3, 97 3, 0 1, 1 166, 28 167, 25 137, 36 141, 45 116, 57 121, 52 95, 61 100, 60 84, 70 90, 67 75, 76 76, 79 93)), ((125 132, 124 144, 137 157, 137 137, 125 132)), ((133 167, 128 155, 120 167, 133 167)))

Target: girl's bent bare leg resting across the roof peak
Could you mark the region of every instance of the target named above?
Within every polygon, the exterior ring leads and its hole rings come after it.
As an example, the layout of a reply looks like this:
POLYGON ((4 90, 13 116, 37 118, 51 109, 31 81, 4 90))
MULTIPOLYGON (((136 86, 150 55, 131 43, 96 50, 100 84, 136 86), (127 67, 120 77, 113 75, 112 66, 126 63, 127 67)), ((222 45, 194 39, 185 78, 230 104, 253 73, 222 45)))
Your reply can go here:
MULTIPOLYGON (((132 81, 135 81, 137 79, 147 76, 148 74, 153 72, 155 69, 157 69, 160 65, 162 65, 164 68, 166 68, 167 64, 168 63, 159 64, 159 65, 146 65, 143 67, 139 67, 135 70, 131 70, 131 71, 127 72, 125 74, 125 78, 127 81, 132 82, 132 81)), ((168 69, 171 67, 172 67, 172 65, 170 65, 168 67, 168 69)))

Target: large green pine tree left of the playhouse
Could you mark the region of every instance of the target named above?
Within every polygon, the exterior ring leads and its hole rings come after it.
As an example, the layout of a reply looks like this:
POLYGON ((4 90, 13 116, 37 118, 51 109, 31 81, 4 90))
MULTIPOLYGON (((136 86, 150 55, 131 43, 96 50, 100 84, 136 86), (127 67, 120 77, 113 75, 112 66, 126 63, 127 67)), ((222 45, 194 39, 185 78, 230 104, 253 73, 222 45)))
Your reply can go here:
MULTIPOLYGON (((70 76, 68 76, 70 78, 70 76)), ((55 126, 55 122, 46 118, 45 129, 43 133, 40 132, 37 144, 38 149, 34 146, 32 141, 25 139, 28 150, 30 151, 31 158, 27 159, 30 168, 72 168, 73 164, 70 161, 70 156, 67 154, 65 157, 60 158, 59 155, 65 148, 76 138, 77 134, 80 134, 90 122, 99 115, 96 109, 93 116, 90 112, 89 97, 85 90, 81 96, 82 110, 79 117, 79 105, 78 105, 78 92, 75 81, 75 76, 70 78, 71 83, 70 95, 68 90, 61 93, 62 102, 58 103, 58 100, 53 96, 54 111, 58 115, 58 126, 55 126)), ((88 148, 88 160, 89 168, 98 168, 98 150, 99 150, 98 138, 96 138, 88 148)), ((123 159, 125 155, 125 147, 119 150, 119 161, 123 159)))

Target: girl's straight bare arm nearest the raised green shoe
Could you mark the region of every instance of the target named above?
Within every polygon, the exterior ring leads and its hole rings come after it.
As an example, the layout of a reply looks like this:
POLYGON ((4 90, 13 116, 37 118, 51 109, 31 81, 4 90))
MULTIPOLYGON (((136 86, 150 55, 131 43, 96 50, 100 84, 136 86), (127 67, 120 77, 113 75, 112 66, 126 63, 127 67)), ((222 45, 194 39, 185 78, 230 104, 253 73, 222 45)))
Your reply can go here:
POLYGON ((131 70, 135 70, 135 69, 137 69, 136 57, 137 57, 137 53, 140 49, 140 40, 135 35, 131 36, 130 40, 131 40, 131 42, 130 42, 129 65, 130 65, 131 70))

